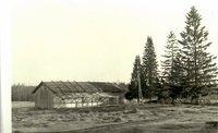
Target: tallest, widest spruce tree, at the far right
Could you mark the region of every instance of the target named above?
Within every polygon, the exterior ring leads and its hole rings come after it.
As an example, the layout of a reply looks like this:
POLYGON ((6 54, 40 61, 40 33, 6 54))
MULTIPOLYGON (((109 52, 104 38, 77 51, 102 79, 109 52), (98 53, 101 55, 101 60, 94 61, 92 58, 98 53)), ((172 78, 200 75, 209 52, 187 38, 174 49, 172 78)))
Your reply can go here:
POLYGON ((202 17, 197 10, 192 7, 186 14, 185 28, 180 34, 182 46, 181 56, 185 74, 185 93, 192 99, 198 98, 203 92, 216 84, 217 66, 213 62, 216 57, 211 56, 207 48, 208 32, 202 26, 202 17))

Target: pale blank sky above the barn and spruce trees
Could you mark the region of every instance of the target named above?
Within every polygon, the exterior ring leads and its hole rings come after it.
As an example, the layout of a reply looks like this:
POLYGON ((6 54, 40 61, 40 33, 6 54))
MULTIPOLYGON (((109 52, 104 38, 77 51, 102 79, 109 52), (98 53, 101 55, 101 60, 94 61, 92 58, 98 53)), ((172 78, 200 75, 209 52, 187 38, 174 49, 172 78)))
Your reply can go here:
POLYGON ((12 82, 129 82, 146 37, 160 59, 167 35, 180 38, 192 5, 218 56, 215 0, 13 0, 12 82))

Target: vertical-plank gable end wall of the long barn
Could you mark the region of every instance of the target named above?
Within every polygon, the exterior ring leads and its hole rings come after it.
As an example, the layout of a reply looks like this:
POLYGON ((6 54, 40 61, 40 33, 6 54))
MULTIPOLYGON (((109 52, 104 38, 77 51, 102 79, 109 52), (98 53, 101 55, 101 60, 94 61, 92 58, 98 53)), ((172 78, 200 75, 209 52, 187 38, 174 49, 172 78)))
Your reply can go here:
POLYGON ((44 85, 35 93, 35 107, 38 109, 53 108, 53 94, 44 85))

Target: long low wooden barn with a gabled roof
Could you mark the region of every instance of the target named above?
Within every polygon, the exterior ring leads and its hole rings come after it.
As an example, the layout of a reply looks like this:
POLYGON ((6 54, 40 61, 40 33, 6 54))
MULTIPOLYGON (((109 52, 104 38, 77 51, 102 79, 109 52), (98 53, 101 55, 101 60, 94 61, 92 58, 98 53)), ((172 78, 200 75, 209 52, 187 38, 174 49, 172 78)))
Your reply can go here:
POLYGON ((126 88, 106 82, 40 82, 32 92, 40 109, 81 108, 122 104, 126 88))

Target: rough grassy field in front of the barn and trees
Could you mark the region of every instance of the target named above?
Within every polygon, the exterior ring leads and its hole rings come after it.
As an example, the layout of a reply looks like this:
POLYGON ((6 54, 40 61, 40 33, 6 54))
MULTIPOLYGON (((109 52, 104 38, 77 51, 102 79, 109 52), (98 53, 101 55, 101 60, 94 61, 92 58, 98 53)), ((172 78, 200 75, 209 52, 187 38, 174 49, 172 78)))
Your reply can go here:
POLYGON ((13 132, 72 133, 218 133, 218 106, 158 105, 89 109, 35 110, 13 104, 13 132))

